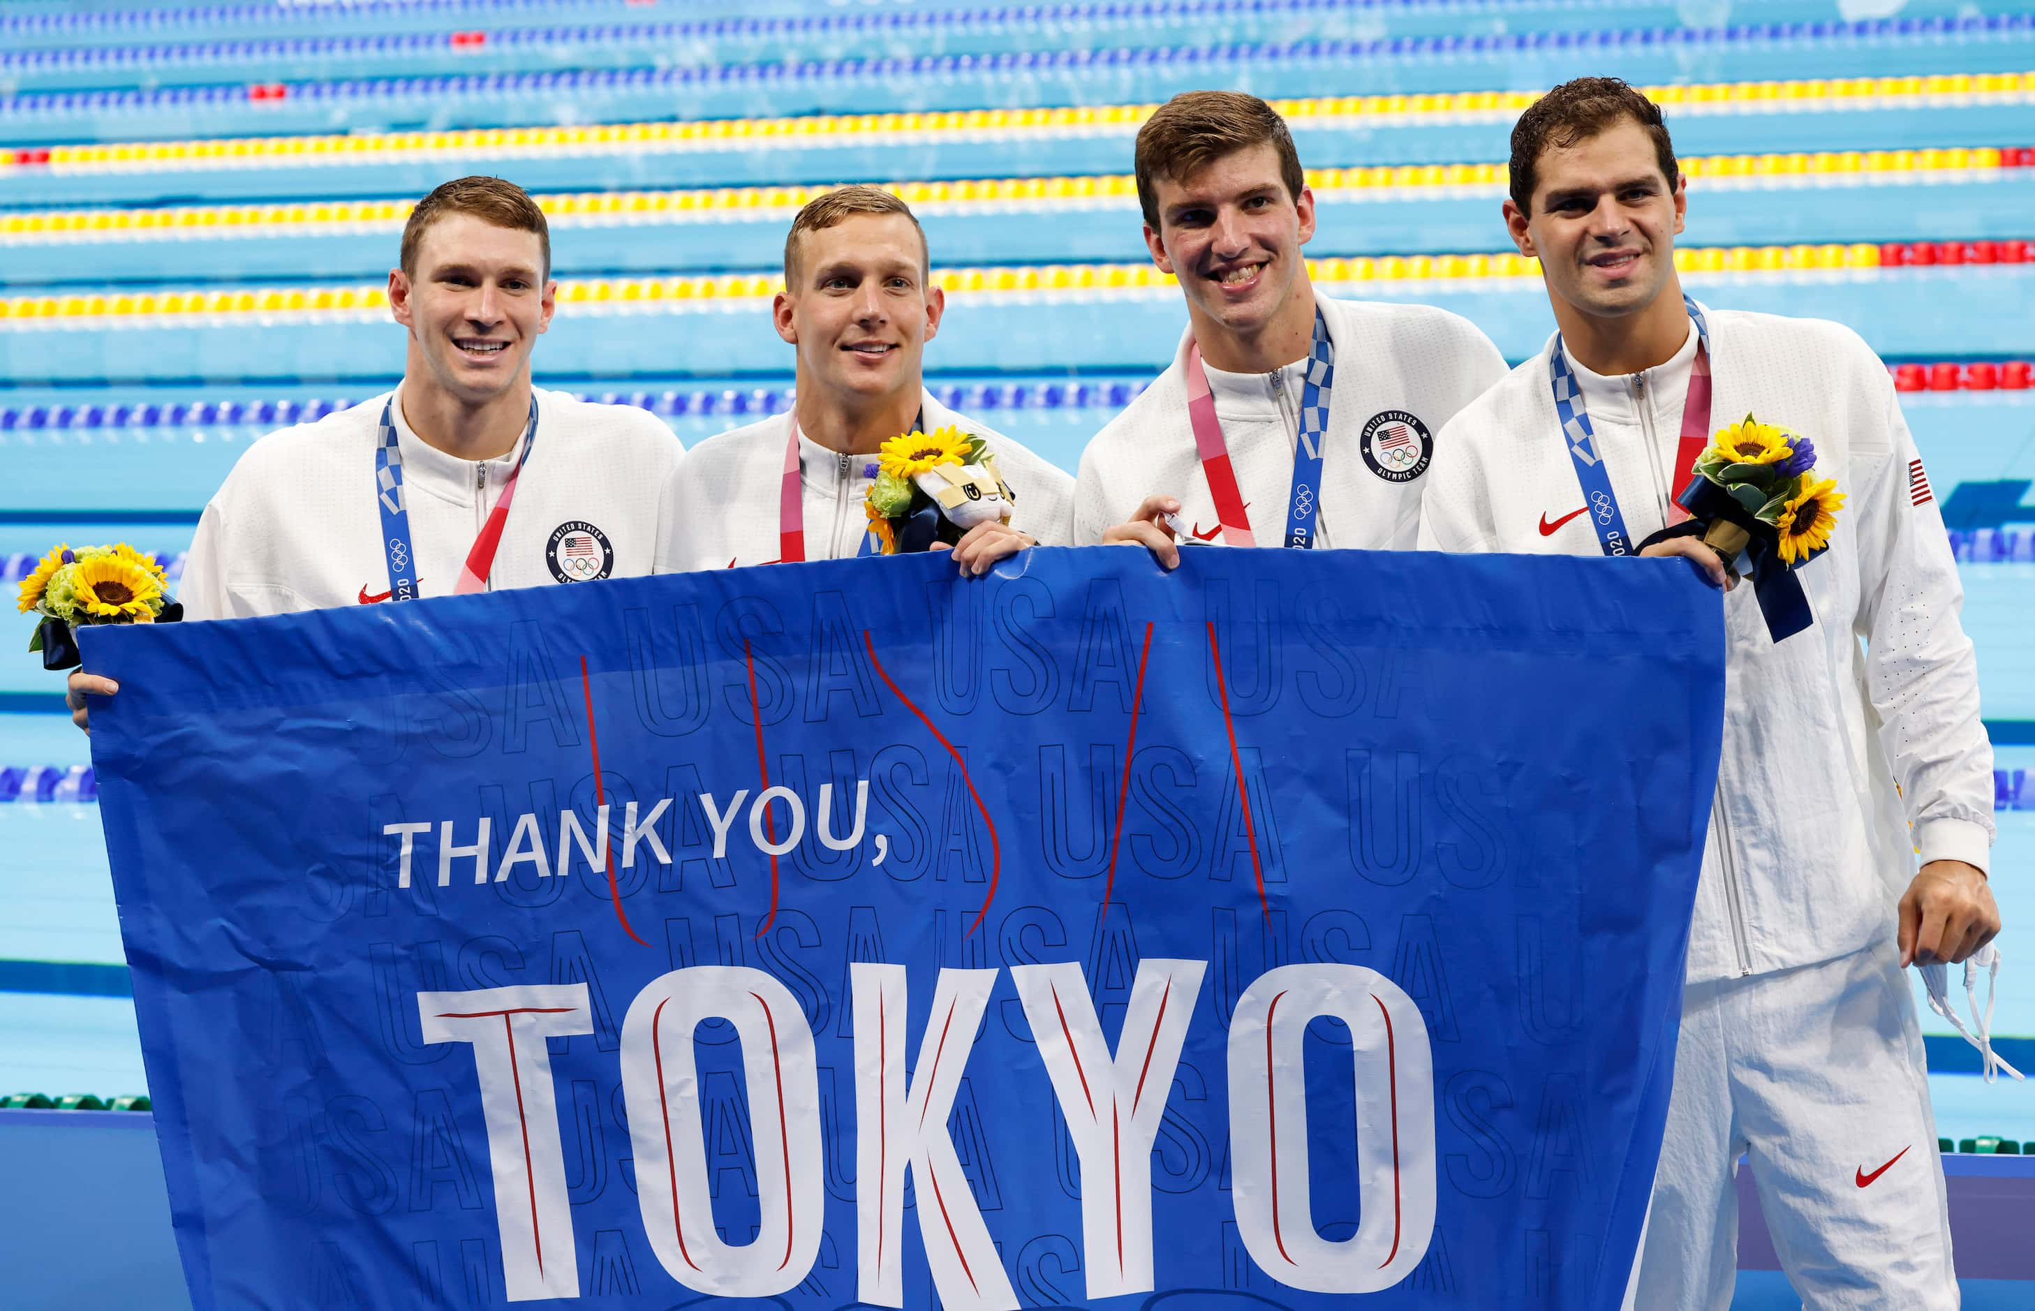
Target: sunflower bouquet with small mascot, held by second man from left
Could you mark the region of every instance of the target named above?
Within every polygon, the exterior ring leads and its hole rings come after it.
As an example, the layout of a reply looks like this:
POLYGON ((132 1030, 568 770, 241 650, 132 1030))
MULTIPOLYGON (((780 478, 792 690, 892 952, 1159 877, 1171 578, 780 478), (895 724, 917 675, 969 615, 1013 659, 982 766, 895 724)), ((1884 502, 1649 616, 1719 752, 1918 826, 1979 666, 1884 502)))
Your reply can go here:
POLYGON ((875 478, 863 511, 881 556, 952 546, 977 523, 1009 521, 1015 501, 989 444, 958 428, 899 434, 863 474, 875 478))

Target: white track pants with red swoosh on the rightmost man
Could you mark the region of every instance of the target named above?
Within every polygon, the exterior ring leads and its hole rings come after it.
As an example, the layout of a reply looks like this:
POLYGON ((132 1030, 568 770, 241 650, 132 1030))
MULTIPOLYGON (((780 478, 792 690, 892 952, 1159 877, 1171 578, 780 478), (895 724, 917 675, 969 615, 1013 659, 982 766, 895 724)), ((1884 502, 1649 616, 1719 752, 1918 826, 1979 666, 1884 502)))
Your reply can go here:
POLYGON ((1921 1026, 1891 943, 1689 985, 1630 1305, 1730 1307, 1740 1152, 1811 1311, 1958 1307, 1921 1026))

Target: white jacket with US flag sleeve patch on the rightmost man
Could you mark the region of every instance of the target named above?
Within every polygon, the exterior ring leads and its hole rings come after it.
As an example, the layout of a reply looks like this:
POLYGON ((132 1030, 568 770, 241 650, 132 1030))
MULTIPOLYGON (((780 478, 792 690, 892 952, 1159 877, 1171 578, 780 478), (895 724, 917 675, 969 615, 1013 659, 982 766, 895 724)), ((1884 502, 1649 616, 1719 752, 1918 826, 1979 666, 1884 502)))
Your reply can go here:
MULTIPOLYGON (((1992 843, 1992 747, 1958 623, 1964 590, 1886 366, 1838 324, 1703 314, 1711 432, 1752 413, 1809 438, 1817 474, 1836 478, 1846 503, 1829 550, 1799 574, 1815 627, 1775 643, 1750 582, 1722 598, 1724 757, 1691 981, 1811 965, 1891 936, 1917 851, 1984 869, 1992 843)), ((1591 515, 1571 517, 1583 491, 1555 417, 1553 350, 1551 338, 1443 432, 1422 548, 1602 554, 1591 515)), ((1665 505, 1636 434, 1600 425, 1597 454, 1626 527, 1644 539, 1665 525, 1665 505)), ((1675 436, 1661 438, 1669 456, 1675 436)))

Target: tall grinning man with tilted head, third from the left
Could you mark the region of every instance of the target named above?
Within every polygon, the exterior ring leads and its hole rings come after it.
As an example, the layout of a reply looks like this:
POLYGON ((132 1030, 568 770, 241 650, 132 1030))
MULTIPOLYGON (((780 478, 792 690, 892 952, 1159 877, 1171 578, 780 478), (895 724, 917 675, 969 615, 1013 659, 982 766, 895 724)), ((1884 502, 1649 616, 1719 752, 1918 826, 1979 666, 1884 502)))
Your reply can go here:
POLYGON ((1083 452, 1074 542, 1144 544, 1166 568, 1180 535, 1410 548, 1435 432, 1504 358, 1443 309, 1315 291, 1315 193, 1264 100, 1174 96, 1136 163, 1146 246, 1180 281, 1188 328, 1083 452))

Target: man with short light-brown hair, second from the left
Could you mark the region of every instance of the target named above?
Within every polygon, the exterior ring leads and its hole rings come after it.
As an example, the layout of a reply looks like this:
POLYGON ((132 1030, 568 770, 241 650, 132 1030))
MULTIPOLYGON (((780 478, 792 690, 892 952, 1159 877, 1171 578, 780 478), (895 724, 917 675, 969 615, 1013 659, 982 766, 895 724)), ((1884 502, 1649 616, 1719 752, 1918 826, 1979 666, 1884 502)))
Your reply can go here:
POLYGON ((873 552, 863 501, 877 450, 940 428, 987 440, 1013 499, 1009 523, 954 544, 961 572, 1066 544, 1074 480, 926 391, 926 342, 946 311, 928 259, 918 218, 881 187, 840 187, 798 212, 771 305, 777 336, 798 352, 794 407, 688 452, 665 497, 659 572, 873 552))

